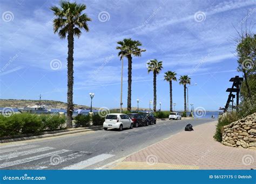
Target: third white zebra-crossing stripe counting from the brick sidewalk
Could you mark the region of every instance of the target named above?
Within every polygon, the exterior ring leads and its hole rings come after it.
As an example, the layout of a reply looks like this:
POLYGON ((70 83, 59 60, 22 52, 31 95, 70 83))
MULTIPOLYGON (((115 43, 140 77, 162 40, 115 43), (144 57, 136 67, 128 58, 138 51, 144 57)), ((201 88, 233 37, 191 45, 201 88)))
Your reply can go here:
POLYGON ((70 151, 70 150, 58 150, 58 151, 53 151, 53 152, 50 152, 50 153, 40 154, 40 155, 36 155, 36 156, 33 156, 33 157, 21 159, 21 160, 4 162, 3 164, 0 164, 0 168, 15 166, 15 165, 19 165, 19 164, 24 164, 26 162, 39 160, 39 159, 42 159, 42 158, 45 158, 45 157, 50 157, 51 155, 61 154, 61 153, 65 153, 65 152, 68 152, 68 151, 70 151))

